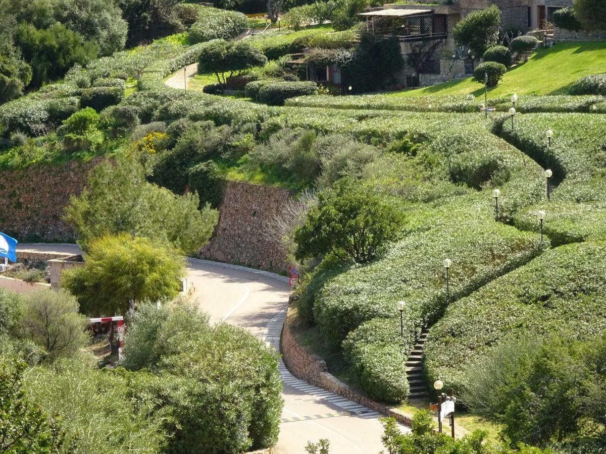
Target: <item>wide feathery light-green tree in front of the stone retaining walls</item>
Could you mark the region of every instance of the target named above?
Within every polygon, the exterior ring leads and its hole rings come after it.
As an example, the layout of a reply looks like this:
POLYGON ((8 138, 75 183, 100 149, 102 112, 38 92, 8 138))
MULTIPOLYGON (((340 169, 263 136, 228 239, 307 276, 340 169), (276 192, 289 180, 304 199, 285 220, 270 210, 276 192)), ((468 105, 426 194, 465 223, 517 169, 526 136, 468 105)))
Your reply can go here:
POLYGON ((208 206, 198 210, 197 194, 176 196, 146 177, 136 157, 118 157, 93 169, 87 187, 65 209, 65 220, 75 228, 84 250, 93 239, 120 232, 165 241, 184 252, 208 242, 218 211, 208 206))

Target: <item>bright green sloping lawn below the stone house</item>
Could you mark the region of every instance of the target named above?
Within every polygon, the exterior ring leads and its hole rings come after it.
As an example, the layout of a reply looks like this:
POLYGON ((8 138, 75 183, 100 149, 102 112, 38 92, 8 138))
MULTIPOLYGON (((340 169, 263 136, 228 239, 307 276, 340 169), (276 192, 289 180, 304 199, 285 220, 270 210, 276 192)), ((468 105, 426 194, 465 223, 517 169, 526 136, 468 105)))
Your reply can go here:
MULTIPOLYGON (((588 74, 606 72, 606 41, 559 42, 539 49, 528 62, 510 68, 499 85, 488 89, 488 97, 518 94, 566 94, 568 87, 588 74)), ((484 85, 471 77, 431 87, 390 93, 390 96, 473 94, 484 96, 484 85)))

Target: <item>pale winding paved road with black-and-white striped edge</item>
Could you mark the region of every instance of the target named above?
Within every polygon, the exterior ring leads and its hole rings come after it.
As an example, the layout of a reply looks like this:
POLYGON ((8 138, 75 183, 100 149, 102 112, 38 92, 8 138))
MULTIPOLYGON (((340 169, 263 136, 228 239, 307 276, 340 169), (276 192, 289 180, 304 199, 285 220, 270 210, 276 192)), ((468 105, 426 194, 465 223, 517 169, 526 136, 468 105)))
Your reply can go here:
MULTIPOLYGON (((27 245, 18 250, 79 254, 76 245, 27 245)), ((276 274, 241 266, 190 259, 188 280, 211 323, 226 321, 249 329, 279 349, 290 288, 276 274)), ((284 410, 275 452, 304 453, 307 441, 330 440, 331 454, 377 454, 383 449, 378 415, 334 393, 311 386, 279 366, 284 410)), ((402 427, 403 430, 408 430, 402 427)))

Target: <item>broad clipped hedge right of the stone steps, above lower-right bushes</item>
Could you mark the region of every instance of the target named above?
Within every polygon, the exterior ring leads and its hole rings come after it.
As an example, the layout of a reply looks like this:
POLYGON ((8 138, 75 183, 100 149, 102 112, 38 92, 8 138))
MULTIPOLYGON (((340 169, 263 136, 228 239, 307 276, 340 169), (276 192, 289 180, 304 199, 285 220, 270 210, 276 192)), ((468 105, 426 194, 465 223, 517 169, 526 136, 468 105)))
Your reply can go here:
POLYGON ((561 246, 451 304, 425 343, 429 380, 464 389, 465 370, 507 338, 604 332, 605 254, 603 242, 561 246))

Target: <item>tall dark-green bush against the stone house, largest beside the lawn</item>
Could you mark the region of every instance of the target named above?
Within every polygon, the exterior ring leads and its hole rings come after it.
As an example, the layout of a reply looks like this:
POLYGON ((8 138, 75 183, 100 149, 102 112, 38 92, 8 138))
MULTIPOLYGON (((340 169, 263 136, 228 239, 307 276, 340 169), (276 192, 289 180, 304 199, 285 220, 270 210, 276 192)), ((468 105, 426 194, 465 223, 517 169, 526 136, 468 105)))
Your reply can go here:
POLYGON ((484 55, 487 48, 496 44, 501 11, 496 5, 469 13, 454 27, 454 41, 467 46, 476 56, 484 55))

